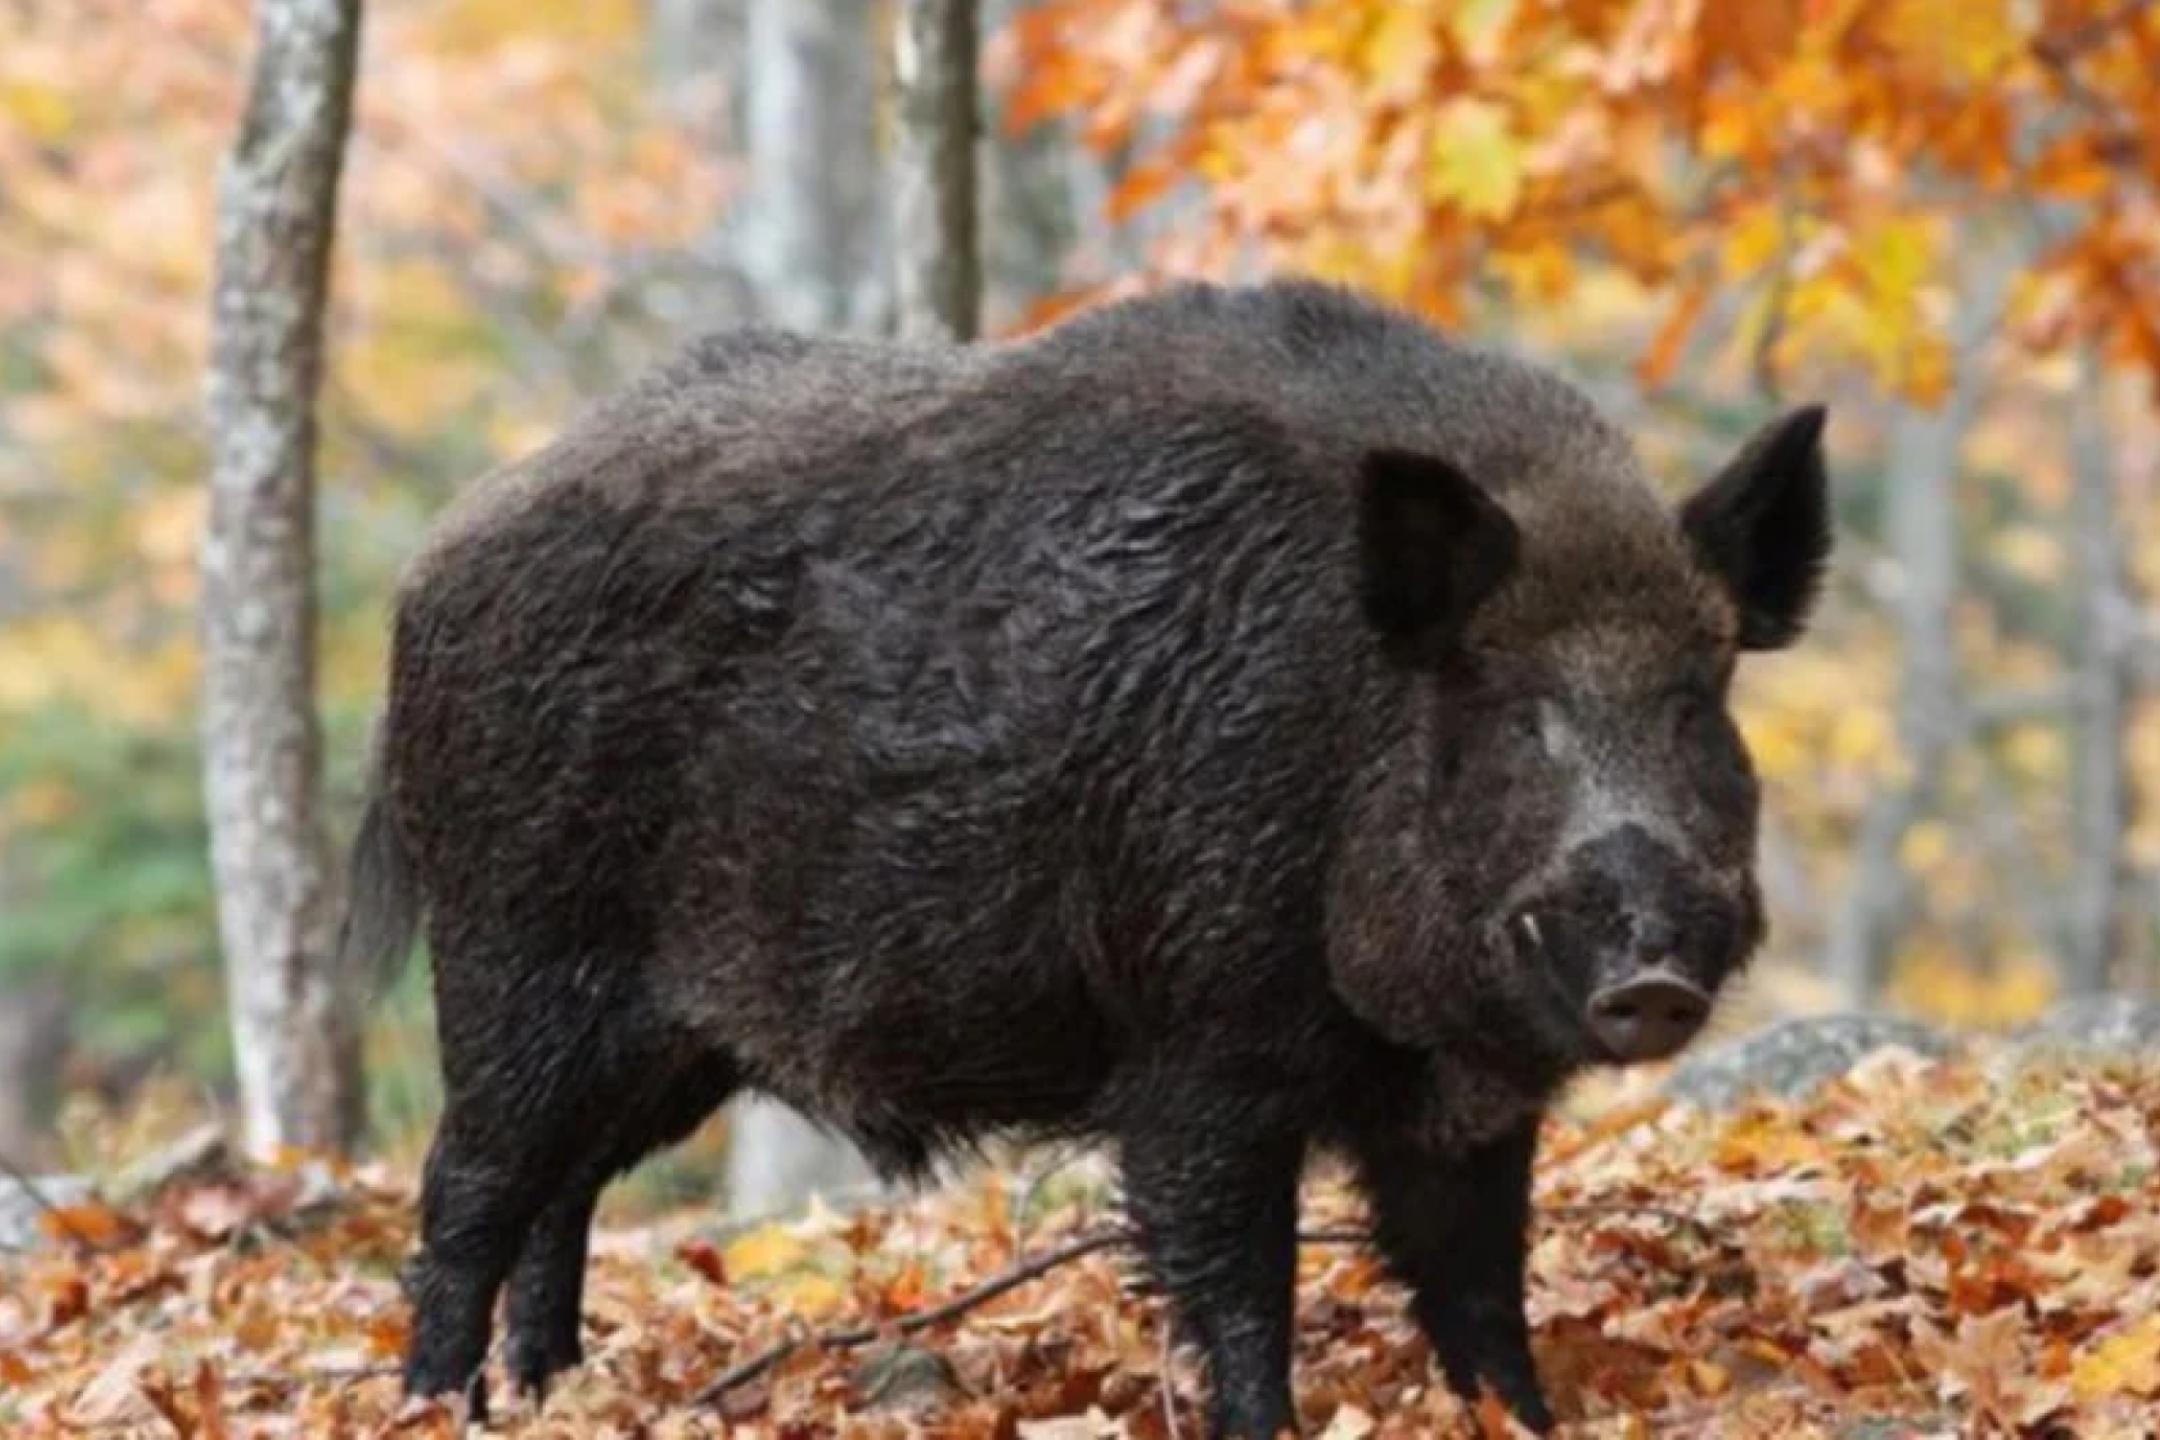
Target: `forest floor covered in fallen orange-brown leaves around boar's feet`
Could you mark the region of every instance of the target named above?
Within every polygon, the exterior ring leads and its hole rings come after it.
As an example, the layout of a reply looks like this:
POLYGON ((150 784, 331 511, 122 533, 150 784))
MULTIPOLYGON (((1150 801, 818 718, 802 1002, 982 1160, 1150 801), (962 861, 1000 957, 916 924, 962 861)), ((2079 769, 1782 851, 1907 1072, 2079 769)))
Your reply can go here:
MULTIPOLYGON (((2149 1436, 2156 1149, 2160 1067, 1886 1051, 1799 1103, 1577 1105, 1544 1138, 1531 1261, 1564 1434, 2149 1436)), ((1305 1224, 1309 1434, 1510 1434, 1434 1384, 1337 1179, 1313 1177, 1305 1224)), ((43 1226, 50 1244, 0 1254, 9 1436, 458 1429, 397 1393, 397 1177, 207 1172, 43 1226)), ((1166 1356, 1115 1228, 1099 1164, 1080 1164, 743 1233, 711 1213, 603 1231, 585 1367, 538 1414, 495 1371, 492 1429, 1199 1436, 1199 1375, 1166 1356), (1067 1250, 903 1339, 905 1317, 1067 1250)))

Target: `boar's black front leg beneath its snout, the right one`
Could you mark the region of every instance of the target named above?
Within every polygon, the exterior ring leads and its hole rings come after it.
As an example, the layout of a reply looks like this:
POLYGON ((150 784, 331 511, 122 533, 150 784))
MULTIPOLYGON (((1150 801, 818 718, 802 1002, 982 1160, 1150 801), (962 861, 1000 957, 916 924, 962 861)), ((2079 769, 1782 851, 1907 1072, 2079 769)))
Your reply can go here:
POLYGON ((1410 1287, 1413 1313, 1447 1384, 1467 1401, 1490 1386, 1536 1431, 1553 1425, 1529 1356, 1523 1265, 1538 1127, 1441 1157, 1406 1136, 1372 1136, 1359 1168, 1374 1239, 1410 1287))

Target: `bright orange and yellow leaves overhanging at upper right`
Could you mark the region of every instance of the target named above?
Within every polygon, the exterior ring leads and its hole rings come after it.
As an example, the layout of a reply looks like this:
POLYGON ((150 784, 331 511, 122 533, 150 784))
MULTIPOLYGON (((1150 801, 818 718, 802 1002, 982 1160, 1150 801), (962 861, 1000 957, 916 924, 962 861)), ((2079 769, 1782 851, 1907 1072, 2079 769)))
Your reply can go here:
POLYGON ((1661 296, 1663 380, 1706 307, 1765 376, 1864 365, 1942 395, 1974 225, 2039 231, 2007 322, 2160 378, 2160 6, 2143 0, 1050 0, 1015 125, 1179 186, 1171 270, 1266 259, 1460 320, 1661 296))

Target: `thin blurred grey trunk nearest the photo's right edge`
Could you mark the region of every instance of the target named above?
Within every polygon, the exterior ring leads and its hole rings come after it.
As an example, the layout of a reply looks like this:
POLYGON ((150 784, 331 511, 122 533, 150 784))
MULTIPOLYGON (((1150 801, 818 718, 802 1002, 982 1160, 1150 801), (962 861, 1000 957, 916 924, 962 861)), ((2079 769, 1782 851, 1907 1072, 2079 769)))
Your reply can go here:
POLYGON ((2128 902, 2130 762, 2125 753, 2136 611, 2130 600, 2125 520, 2117 505, 2106 378, 2093 354, 2069 399, 2071 535, 2078 555, 2074 872, 2063 989, 2106 991, 2121 952, 2128 902))

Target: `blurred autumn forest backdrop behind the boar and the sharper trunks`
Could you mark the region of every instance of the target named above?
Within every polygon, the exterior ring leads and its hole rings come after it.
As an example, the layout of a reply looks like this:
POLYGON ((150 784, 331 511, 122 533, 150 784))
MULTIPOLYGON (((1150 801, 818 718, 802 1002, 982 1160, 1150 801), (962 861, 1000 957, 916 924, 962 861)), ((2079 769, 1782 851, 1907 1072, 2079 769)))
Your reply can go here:
MULTIPOLYGON (((460 484, 698 330, 894 328, 901 11, 367 0, 315 468, 333 851, 391 585, 460 484)), ((0 0, 15 1166, 231 1108, 199 561, 251 24, 0 0)), ((2007 1025, 2156 989, 2160 4, 987 0, 981 37, 987 335, 1315 272, 1562 365, 1674 492, 1830 402, 1836 587, 1743 680, 1756 1010, 2007 1025)), ((423 965, 365 1077, 374 1146, 417 1157, 423 965)), ((708 1192, 724 1144, 644 1183, 708 1192)))

